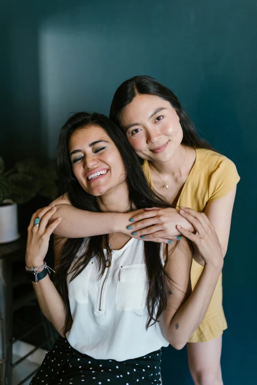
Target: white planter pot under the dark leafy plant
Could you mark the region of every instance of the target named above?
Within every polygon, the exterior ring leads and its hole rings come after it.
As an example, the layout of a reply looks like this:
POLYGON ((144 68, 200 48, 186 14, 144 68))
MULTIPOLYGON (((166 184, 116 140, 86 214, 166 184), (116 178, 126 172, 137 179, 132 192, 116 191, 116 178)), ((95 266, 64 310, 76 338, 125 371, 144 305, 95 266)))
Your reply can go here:
POLYGON ((10 200, 4 203, 9 204, 0 206, 0 243, 12 242, 20 237, 17 205, 10 200))

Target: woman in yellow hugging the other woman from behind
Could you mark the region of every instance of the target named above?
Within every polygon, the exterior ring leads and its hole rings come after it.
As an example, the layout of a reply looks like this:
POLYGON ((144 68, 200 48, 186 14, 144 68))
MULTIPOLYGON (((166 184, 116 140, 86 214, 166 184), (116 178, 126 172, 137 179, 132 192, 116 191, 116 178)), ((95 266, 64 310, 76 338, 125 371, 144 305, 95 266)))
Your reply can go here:
MULTIPOLYGON (((177 210, 146 209, 132 216, 131 212, 92 213, 70 206, 64 194, 54 202, 57 212, 53 219, 63 218, 56 229, 57 239, 129 231, 133 237, 166 243, 180 238, 180 226, 193 231, 186 220, 188 213, 183 210, 191 207, 208 216, 225 256, 239 181, 233 162, 197 137, 177 97, 148 76, 136 76, 117 89, 110 118, 121 126, 137 155, 144 160, 143 169, 151 185, 177 210), (130 224, 126 223, 128 220, 130 224)), ((57 242, 56 252, 61 243, 57 242)), ((195 249, 193 287, 202 268, 203 260, 195 249)), ((223 384, 220 357, 226 327, 220 277, 206 316, 187 344, 195 385, 223 384)))

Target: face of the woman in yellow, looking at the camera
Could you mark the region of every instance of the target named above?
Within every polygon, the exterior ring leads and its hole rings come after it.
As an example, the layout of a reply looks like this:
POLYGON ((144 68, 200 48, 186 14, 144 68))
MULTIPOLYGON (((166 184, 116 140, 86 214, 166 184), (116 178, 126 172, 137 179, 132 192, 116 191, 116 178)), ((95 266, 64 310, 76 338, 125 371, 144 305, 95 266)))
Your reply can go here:
POLYGON ((177 112, 156 95, 136 95, 124 108, 121 123, 130 145, 143 159, 167 162, 183 139, 177 112))

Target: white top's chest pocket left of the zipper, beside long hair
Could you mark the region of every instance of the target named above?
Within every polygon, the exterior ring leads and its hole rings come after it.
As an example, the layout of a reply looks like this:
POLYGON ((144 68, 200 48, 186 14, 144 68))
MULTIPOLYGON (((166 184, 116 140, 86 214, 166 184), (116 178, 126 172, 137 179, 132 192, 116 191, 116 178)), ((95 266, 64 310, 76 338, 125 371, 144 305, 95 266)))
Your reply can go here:
POLYGON ((68 285, 68 295, 69 300, 74 300, 78 303, 87 303, 88 302, 88 284, 89 277, 92 270, 94 262, 90 262, 81 273, 74 278, 71 282, 69 279, 72 277, 73 273, 70 273, 67 277, 68 285))

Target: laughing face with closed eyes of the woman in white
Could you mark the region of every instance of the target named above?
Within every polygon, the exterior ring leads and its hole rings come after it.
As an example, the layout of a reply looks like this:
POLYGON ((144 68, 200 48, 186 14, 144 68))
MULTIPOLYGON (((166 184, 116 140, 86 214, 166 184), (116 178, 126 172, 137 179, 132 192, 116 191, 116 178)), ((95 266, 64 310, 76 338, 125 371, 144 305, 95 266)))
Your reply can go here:
POLYGON ((74 131, 69 154, 74 176, 87 193, 103 196, 126 183, 118 148, 102 128, 89 125, 74 131))

